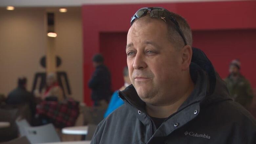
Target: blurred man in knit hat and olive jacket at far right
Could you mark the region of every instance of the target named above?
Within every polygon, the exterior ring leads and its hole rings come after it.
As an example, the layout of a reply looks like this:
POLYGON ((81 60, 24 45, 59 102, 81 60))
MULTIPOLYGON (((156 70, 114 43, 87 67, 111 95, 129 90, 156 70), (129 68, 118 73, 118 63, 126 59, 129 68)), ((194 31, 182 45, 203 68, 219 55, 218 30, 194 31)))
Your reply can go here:
POLYGON ((253 92, 249 81, 240 73, 240 68, 240 61, 238 59, 233 60, 229 65, 229 75, 225 78, 225 82, 230 96, 248 110, 252 102, 253 92))

